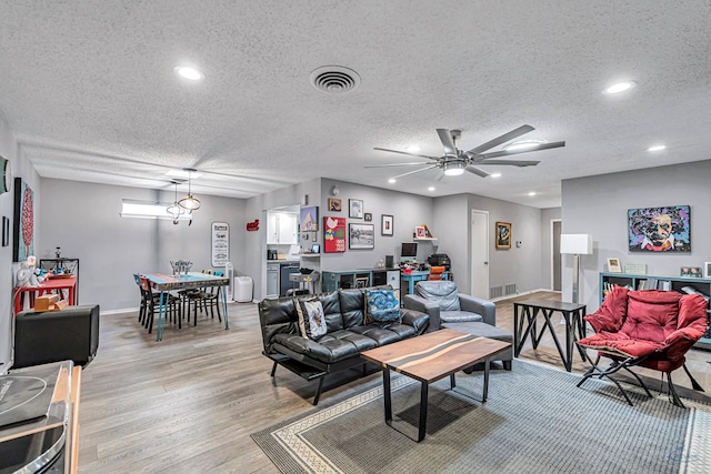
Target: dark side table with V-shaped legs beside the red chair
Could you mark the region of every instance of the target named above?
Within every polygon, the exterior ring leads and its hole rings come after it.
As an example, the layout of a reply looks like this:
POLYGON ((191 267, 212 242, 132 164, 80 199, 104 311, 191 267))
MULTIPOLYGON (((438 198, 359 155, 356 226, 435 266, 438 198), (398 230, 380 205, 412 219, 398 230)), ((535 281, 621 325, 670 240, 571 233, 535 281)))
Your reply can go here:
MULTIPOLYGON (((551 300, 523 300, 513 303, 513 355, 515 357, 521 353, 521 347, 525 342, 525 339, 531 335, 531 343, 533 349, 538 347, 541 342, 541 336, 545 331, 545 327, 550 330, 553 341, 555 341, 555 347, 560 354, 561 361, 565 365, 565 370, 570 372, 573 362, 573 342, 575 342, 575 329, 578 330, 578 337, 585 336, 585 324, 583 316, 585 315, 585 305, 578 303, 563 303, 561 301, 551 300), (555 335, 553 322, 551 316, 558 311, 563 315, 565 321, 565 354, 560 346, 560 341, 555 335), (542 313, 545 322, 543 327, 538 332, 535 327, 535 320, 538 314, 542 313), (528 326, 523 329, 523 324, 528 322, 528 326)), ((582 349, 578 347, 580 356, 583 361, 587 361, 583 355, 582 349)))

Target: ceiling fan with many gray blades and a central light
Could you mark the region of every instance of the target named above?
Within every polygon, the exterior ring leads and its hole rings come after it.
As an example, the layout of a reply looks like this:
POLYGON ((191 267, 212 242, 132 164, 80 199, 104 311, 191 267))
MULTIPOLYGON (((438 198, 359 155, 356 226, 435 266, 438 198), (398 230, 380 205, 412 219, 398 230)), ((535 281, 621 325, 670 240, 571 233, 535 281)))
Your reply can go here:
POLYGON ((364 168, 409 167, 409 165, 415 165, 415 164, 420 164, 420 165, 429 164, 425 168, 421 168, 414 171, 409 171, 407 173, 402 173, 397 177, 393 177, 393 179, 407 177, 408 174, 419 173, 421 171, 432 170, 435 168, 440 169, 440 173, 437 177, 437 181, 441 180, 442 177, 444 175, 455 177, 458 174, 463 174, 464 171, 477 174, 481 178, 487 178, 489 173, 482 170, 481 168, 479 168, 480 165, 497 164, 497 165, 507 165, 507 167, 535 167, 538 163, 540 163, 540 161, 494 160, 495 158, 503 158, 510 154, 528 153, 531 151, 565 147, 565 142, 560 141, 560 142, 552 142, 552 143, 533 143, 530 147, 509 148, 502 151, 484 153, 484 151, 487 150, 490 150, 494 147, 505 143, 510 140, 513 140, 535 129, 533 129, 533 127, 531 125, 521 125, 518 129, 511 130, 510 132, 504 133, 501 137, 498 137, 493 140, 490 140, 487 143, 480 144, 479 147, 472 148, 469 151, 462 151, 462 150, 459 150, 455 145, 455 141, 459 140, 462 135, 461 130, 437 129, 437 133, 440 135, 440 141, 444 147, 444 154, 442 157, 428 157, 427 154, 389 150, 387 148, 378 148, 378 147, 373 149, 373 150, 380 150, 380 151, 389 151, 391 153, 407 154, 410 157, 427 158, 428 160, 433 160, 433 163, 420 161, 420 162, 410 162, 410 163, 372 164, 364 168))

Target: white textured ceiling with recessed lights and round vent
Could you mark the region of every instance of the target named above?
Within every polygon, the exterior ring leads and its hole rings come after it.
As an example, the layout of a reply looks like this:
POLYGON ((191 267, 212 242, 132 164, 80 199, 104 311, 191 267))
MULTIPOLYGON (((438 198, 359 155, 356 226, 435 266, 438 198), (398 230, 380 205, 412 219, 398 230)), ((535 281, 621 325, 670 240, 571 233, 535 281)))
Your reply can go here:
POLYGON ((710 26, 705 0, 3 0, 0 111, 46 178, 160 189, 189 167, 198 195, 324 177, 549 208, 563 179, 709 159, 710 26), (316 90, 329 64, 360 85, 316 90), (443 154, 437 128, 469 150, 524 123, 565 148, 499 179, 363 169, 417 161, 373 147, 443 154))

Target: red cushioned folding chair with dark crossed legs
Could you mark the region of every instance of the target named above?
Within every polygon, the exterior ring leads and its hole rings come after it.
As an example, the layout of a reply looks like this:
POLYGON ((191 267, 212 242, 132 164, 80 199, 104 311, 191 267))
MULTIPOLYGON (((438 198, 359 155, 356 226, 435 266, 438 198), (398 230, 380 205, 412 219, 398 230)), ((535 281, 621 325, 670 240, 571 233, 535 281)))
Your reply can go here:
POLYGON ((575 344, 581 349, 598 351, 598 357, 593 362, 587 356, 592 366, 578 386, 592 376, 608 377, 632 405, 620 383, 610 375, 625 370, 652 396, 644 382, 630 370, 639 365, 667 374, 671 402, 683 407, 671 381, 671 373, 683 366, 693 389, 703 392, 684 365, 684 354, 699 341, 709 324, 703 296, 682 295, 675 291, 631 291, 618 286, 608 294, 602 306, 584 320, 592 325, 595 334, 575 344), (601 356, 612 360, 608 369, 598 366, 601 356))

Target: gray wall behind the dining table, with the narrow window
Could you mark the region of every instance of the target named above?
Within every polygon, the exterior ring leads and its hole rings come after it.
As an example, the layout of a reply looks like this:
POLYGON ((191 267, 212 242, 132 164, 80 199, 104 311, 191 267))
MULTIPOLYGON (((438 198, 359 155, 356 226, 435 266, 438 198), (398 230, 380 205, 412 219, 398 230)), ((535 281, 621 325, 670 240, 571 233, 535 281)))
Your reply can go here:
POLYGON ((244 268, 244 200, 199 195, 202 202, 193 223, 119 215, 122 199, 172 201, 168 191, 42 179, 44 195, 39 219, 38 258, 80 259, 79 301, 99 303, 101 311, 137 307, 139 292, 132 274, 171 273, 170 260, 190 260, 193 270, 210 269, 210 230, 213 221, 230 224, 230 261, 244 268))

